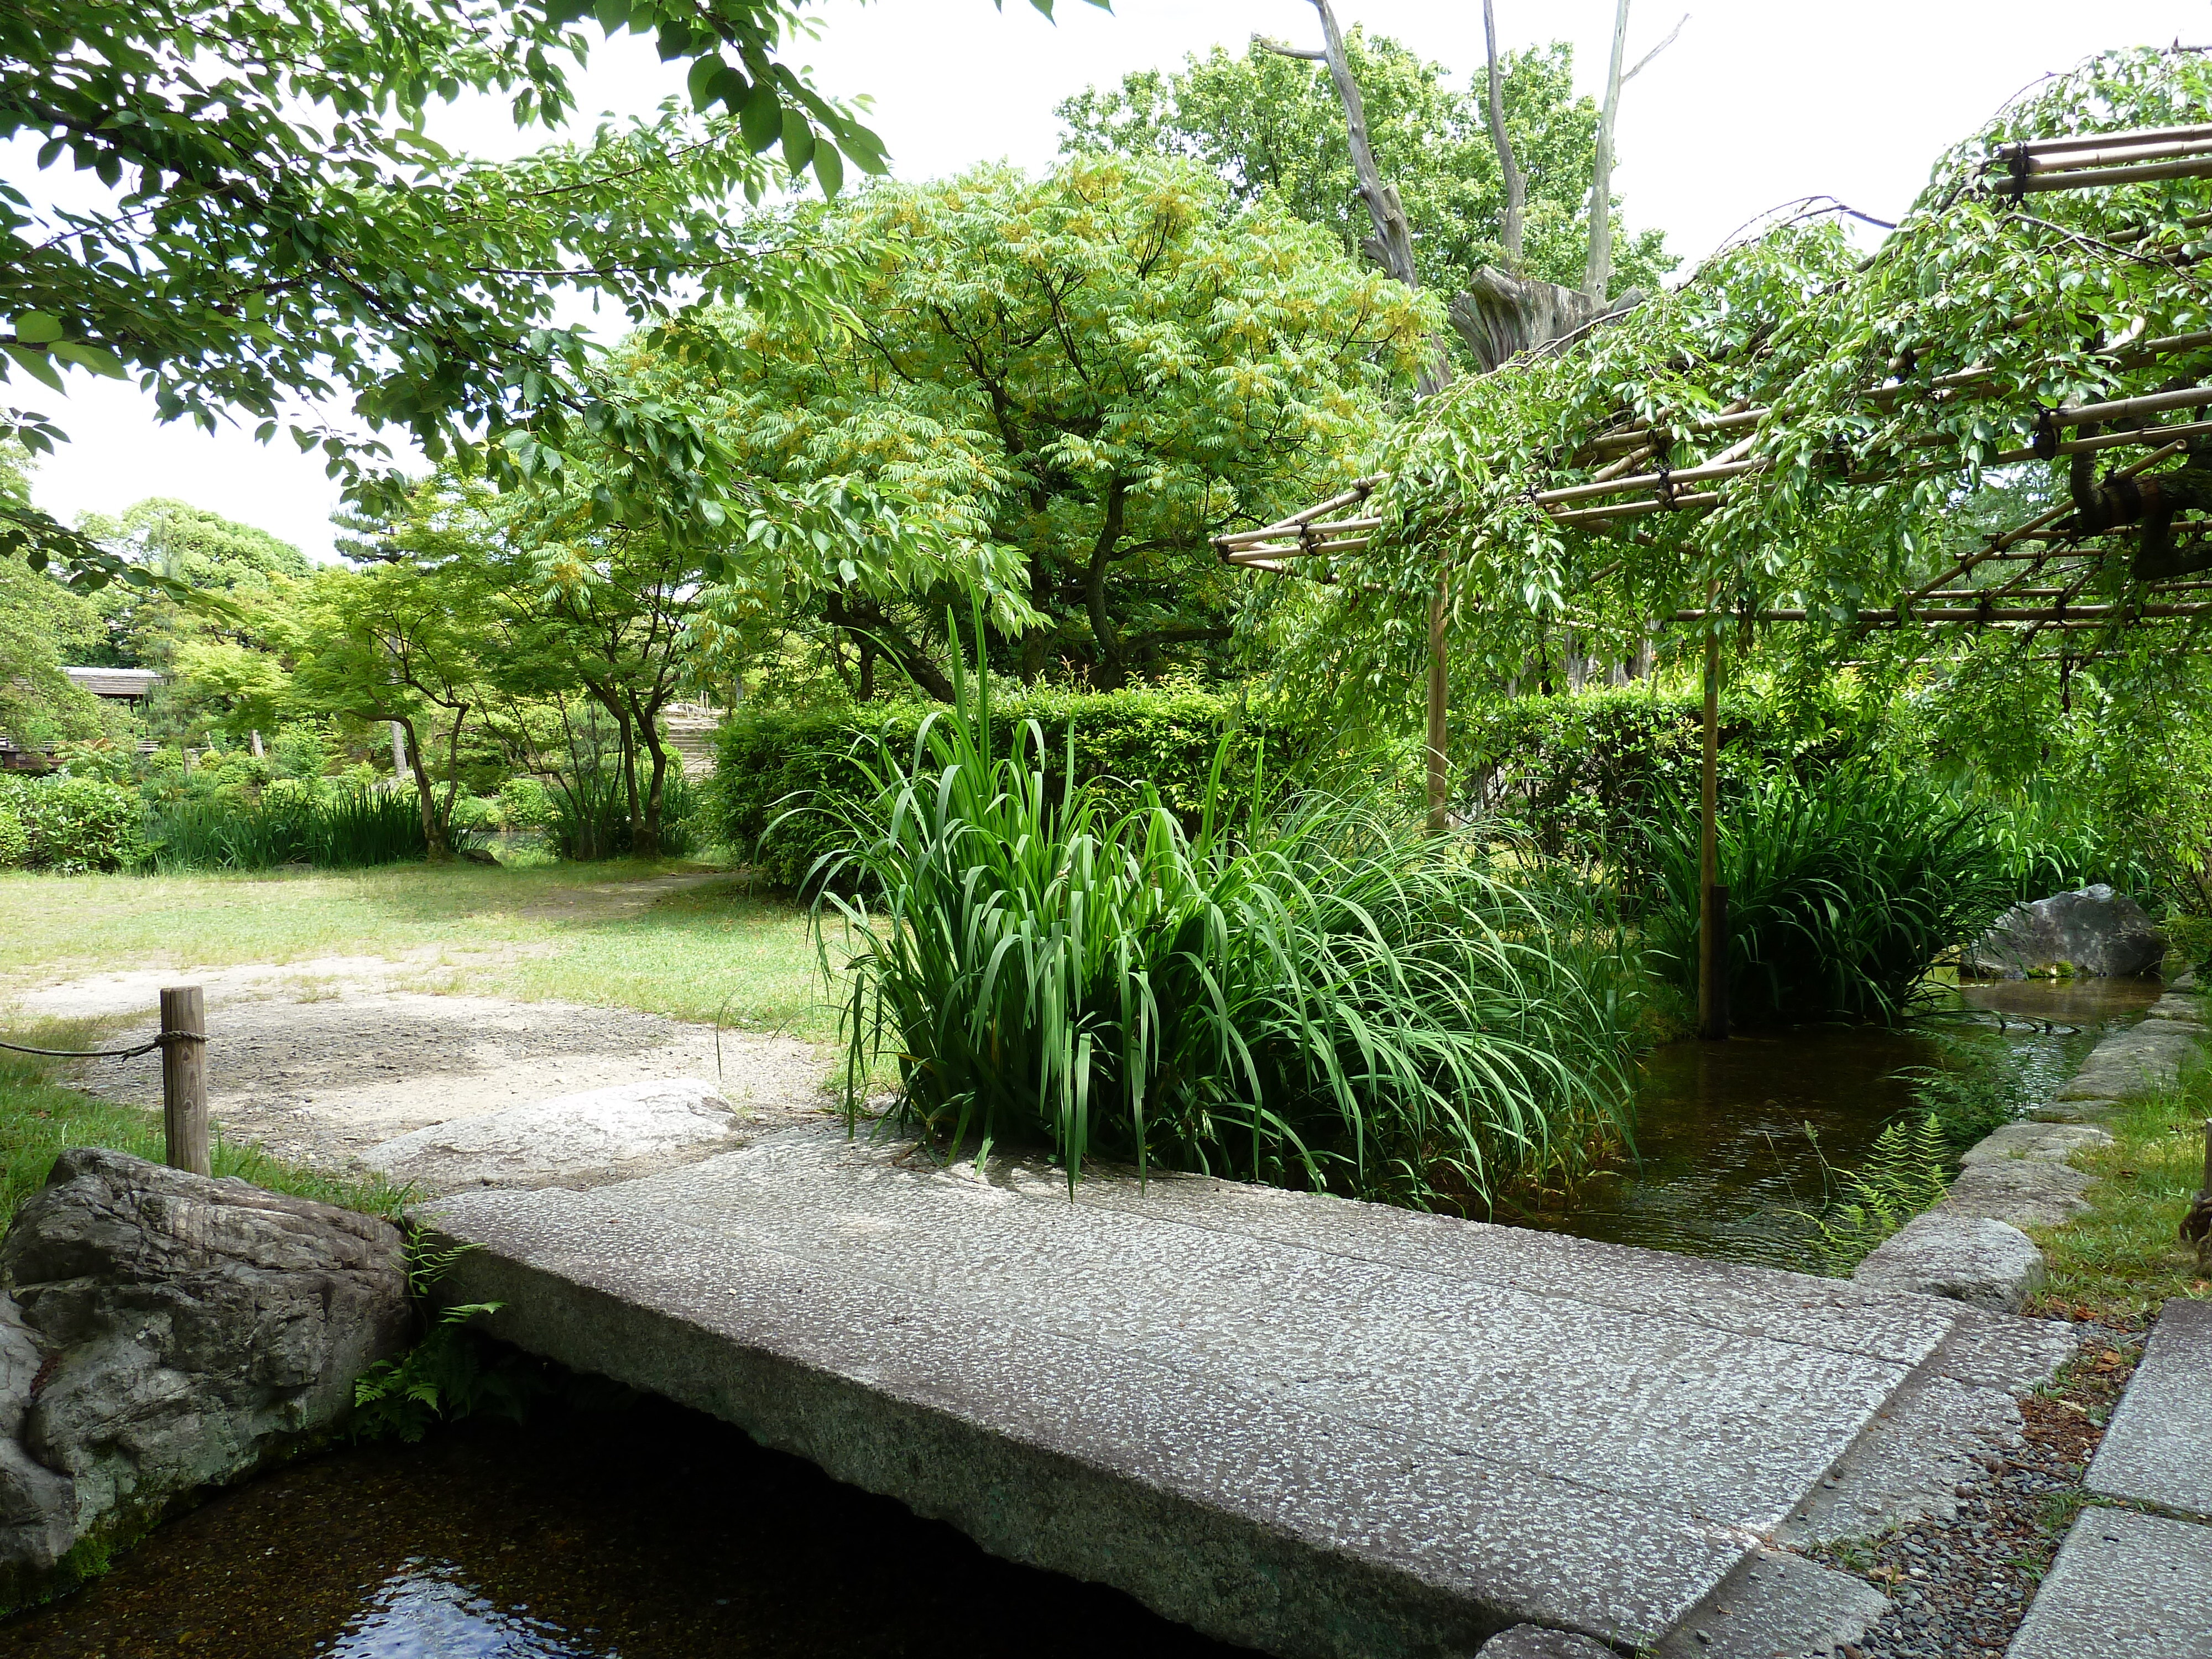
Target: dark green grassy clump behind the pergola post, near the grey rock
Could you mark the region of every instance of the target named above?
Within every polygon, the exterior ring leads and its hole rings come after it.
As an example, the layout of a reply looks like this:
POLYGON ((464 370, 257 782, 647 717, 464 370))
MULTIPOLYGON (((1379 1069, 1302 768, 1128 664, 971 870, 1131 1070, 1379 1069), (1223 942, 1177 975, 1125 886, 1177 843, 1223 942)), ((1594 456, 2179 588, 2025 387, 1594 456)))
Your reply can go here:
MULTIPOLYGON (((1646 825, 1652 967, 1697 982, 1699 814, 1646 825)), ((1721 810, 1728 1000, 1741 1024, 1905 1018, 1929 967, 1986 929, 2013 878, 1989 818, 1942 790, 1843 765, 1772 772, 1721 810)))

